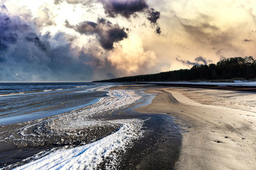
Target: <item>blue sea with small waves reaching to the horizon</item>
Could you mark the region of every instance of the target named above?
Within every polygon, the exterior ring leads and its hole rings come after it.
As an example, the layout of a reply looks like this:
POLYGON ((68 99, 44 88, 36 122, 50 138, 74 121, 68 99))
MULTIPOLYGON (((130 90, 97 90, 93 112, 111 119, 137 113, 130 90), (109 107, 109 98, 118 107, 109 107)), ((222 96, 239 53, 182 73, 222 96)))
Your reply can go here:
MULTIPOLYGON (((108 85, 108 84, 104 84, 108 85)), ((96 103, 100 83, 0 83, 0 125, 50 117, 96 103)))

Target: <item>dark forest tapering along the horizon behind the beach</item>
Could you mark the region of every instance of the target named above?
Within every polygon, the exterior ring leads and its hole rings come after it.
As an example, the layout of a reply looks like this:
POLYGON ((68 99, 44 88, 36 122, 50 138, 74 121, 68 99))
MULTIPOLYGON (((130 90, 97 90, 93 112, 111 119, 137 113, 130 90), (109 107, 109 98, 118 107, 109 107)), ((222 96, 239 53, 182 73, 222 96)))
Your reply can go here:
POLYGON ((179 69, 157 74, 125 76, 96 82, 132 82, 132 81, 196 81, 228 80, 239 78, 250 80, 256 78, 256 60, 250 57, 232 57, 222 59, 216 64, 195 65, 191 69, 179 69))

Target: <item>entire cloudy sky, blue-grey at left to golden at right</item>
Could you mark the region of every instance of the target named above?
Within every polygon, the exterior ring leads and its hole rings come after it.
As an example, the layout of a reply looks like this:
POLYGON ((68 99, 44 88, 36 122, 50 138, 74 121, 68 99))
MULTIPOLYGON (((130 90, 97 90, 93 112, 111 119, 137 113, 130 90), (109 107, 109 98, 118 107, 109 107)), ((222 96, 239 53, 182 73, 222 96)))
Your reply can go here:
POLYGON ((254 0, 0 0, 0 81, 92 81, 256 56, 254 0))

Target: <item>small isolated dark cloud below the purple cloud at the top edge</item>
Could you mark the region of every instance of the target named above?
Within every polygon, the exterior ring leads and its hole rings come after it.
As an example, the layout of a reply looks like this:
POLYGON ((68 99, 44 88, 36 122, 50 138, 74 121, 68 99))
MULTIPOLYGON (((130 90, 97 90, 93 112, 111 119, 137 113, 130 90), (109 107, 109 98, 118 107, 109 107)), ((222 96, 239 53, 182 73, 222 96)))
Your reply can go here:
POLYGON ((70 25, 68 21, 66 21, 66 26, 75 29, 81 34, 96 34, 99 38, 100 45, 106 50, 112 50, 115 42, 127 38, 127 33, 124 28, 113 25, 111 22, 104 19, 98 20, 97 23, 86 21, 78 25, 70 25))

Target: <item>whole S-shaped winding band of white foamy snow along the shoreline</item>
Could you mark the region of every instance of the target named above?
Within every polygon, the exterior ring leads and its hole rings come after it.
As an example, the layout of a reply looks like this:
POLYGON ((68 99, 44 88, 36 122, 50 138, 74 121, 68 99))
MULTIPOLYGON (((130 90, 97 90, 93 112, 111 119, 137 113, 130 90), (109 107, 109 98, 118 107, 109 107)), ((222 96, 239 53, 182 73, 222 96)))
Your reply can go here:
MULTIPOLYGON (((143 120, 95 120, 93 117, 113 113, 121 108, 127 108, 141 99, 141 94, 134 90, 112 90, 112 86, 96 87, 91 91, 108 91, 106 97, 102 97, 96 103, 85 108, 69 113, 56 115, 47 120, 36 120, 17 129, 17 135, 10 136, 9 140, 33 141, 49 138, 47 136, 62 136, 76 129, 93 126, 118 125, 118 131, 113 132, 93 143, 77 146, 76 148, 60 148, 53 150, 40 159, 31 159, 31 162, 17 169, 95 169, 100 163, 105 162, 107 168, 118 164, 118 152, 125 152, 131 146, 134 139, 143 136, 141 130, 143 120), (108 90, 107 90, 108 89, 108 90), (47 133, 45 133, 47 129, 47 133)), ((72 133, 70 133, 72 135, 72 133)), ((68 136, 70 135, 68 134, 68 136)))

